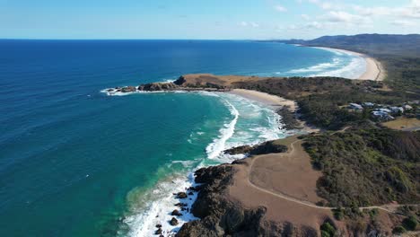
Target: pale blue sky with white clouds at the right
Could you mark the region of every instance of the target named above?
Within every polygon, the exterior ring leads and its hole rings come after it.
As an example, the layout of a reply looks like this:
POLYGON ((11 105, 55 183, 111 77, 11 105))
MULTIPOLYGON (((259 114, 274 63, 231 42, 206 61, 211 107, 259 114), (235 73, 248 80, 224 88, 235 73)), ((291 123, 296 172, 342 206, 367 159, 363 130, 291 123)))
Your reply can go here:
POLYGON ((314 39, 420 33, 420 0, 0 0, 0 39, 314 39))

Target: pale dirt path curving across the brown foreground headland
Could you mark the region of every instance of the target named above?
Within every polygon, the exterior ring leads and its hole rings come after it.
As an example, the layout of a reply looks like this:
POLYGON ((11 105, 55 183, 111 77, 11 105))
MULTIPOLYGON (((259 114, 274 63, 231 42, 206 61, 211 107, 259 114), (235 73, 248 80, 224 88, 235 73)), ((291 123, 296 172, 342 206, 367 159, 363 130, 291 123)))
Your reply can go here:
MULTIPOLYGON (((348 127, 346 127, 346 128, 348 128, 348 127)), ((295 140, 290 145, 288 145, 289 151, 284 153, 284 154, 278 154, 279 158, 287 157, 287 156, 293 156, 293 154, 295 154, 298 149, 303 149, 302 145, 299 145, 300 146, 299 148, 295 147, 298 142, 301 142, 301 140, 295 140)), ((277 198, 284 198, 285 200, 292 201, 292 202, 297 203, 299 205, 310 206, 310 207, 317 208, 317 209, 322 209, 322 210, 337 209, 337 207, 317 206, 314 203, 311 203, 309 201, 304 201, 304 200, 301 200, 301 199, 298 199, 298 198, 293 198, 293 197, 290 197, 286 194, 283 194, 283 193, 280 193, 280 192, 277 192, 277 191, 273 191, 273 190, 265 189, 263 187, 259 187, 257 184, 253 183, 252 180, 250 179, 250 177, 251 177, 251 171, 252 171, 254 162, 258 161, 258 159, 261 159, 261 158, 264 159, 264 157, 265 157, 264 155, 258 155, 256 157, 252 158, 249 162, 247 182, 248 182, 250 187, 252 187, 254 189, 258 189, 261 192, 265 192, 267 194, 273 195, 277 198)), ((359 207, 359 209, 360 210, 381 209, 381 210, 383 210, 385 212, 388 212, 388 213, 396 213, 399 206, 420 206, 420 205, 418 205, 418 204, 413 204, 413 205, 389 204, 389 205, 382 205, 382 206, 363 206, 363 207, 359 207)))

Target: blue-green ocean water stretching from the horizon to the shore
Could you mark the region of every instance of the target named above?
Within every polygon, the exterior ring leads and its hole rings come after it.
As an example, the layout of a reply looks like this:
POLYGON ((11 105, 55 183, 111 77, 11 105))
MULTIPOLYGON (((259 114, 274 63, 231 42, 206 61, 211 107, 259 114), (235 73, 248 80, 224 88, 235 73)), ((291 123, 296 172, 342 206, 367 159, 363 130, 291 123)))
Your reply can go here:
POLYGON ((190 171, 286 136, 276 113, 231 94, 104 88, 193 73, 355 78, 363 63, 275 42, 0 40, 0 236, 152 235, 190 171))

